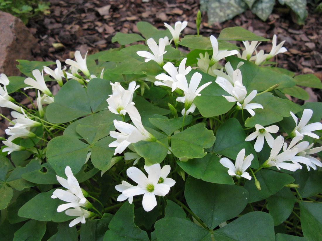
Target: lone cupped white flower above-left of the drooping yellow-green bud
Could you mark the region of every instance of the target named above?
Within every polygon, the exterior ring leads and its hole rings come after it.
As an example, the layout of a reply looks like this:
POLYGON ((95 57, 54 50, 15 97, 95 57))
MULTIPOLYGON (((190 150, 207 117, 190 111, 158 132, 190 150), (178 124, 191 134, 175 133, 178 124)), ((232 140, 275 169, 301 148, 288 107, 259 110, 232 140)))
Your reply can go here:
POLYGON ((236 176, 237 178, 244 177, 248 180, 251 180, 251 176, 248 172, 246 172, 247 168, 251 165, 251 161, 253 160, 253 154, 245 156, 245 149, 242 149, 237 157, 235 165, 226 157, 220 159, 220 163, 224 166, 229 168, 228 174, 231 176, 236 176))

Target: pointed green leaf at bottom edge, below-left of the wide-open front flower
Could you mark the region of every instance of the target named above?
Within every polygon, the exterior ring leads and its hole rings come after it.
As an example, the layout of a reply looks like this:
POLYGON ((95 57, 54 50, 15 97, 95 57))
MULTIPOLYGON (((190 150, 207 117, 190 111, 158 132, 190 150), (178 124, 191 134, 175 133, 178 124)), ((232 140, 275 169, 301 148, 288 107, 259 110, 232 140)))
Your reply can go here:
POLYGON ((146 231, 134 224, 134 204, 125 202, 109 223, 104 241, 149 241, 146 231))

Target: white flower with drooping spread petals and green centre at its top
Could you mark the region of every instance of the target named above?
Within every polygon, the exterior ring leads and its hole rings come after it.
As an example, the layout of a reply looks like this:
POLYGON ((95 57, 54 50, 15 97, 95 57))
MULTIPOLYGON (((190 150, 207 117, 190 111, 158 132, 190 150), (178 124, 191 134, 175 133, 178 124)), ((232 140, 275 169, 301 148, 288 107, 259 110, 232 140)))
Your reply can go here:
POLYGON ((261 149, 263 148, 264 138, 265 138, 267 141, 267 144, 270 146, 270 148, 272 148, 275 139, 272 137, 270 133, 278 132, 279 127, 276 125, 273 125, 273 126, 268 126, 264 128, 263 126, 256 124, 255 129, 256 131, 251 133, 248 137, 246 137, 245 141, 251 141, 257 138, 254 148, 255 148, 255 151, 260 152, 261 149))

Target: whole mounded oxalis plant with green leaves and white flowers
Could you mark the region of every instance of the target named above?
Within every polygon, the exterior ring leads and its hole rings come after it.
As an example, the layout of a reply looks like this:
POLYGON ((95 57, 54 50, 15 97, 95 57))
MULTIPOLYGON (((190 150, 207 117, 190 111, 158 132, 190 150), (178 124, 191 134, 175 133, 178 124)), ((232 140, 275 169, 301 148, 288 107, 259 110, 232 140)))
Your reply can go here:
POLYGON ((322 104, 286 97, 320 81, 274 67, 277 36, 265 53, 239 27, 180 40, 186 25, 1 74, 1 240, 322 240, 322 104))

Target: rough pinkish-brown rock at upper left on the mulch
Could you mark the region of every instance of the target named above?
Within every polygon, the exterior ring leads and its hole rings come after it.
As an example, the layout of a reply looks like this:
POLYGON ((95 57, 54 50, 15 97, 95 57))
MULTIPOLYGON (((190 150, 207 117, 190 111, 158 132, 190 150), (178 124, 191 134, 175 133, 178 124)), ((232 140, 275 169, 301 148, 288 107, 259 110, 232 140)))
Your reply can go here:
POLYGON ((16 59, 33 60, 32 50, 37 40, 17 17, 0 11, 0 73, 7 76, 21 75, 16 59))

